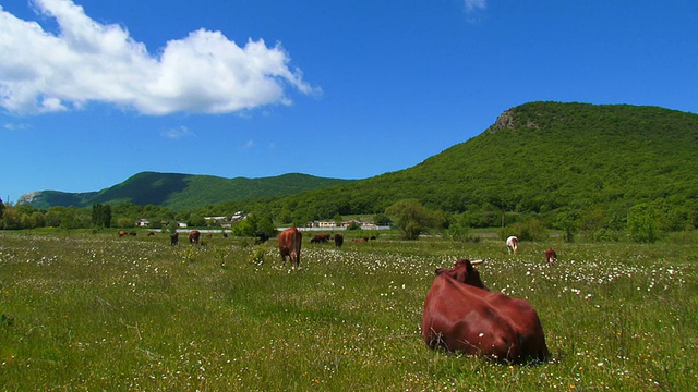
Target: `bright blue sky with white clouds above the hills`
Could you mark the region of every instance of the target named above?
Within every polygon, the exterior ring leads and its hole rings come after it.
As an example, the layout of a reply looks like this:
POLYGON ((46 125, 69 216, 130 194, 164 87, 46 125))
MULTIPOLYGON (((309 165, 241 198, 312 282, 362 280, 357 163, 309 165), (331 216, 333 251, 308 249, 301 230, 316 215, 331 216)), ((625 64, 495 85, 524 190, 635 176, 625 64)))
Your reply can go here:
POLYGON ((0 197, 366 179, 538 100, 698 112, 694 0, 0 0, 0 197))

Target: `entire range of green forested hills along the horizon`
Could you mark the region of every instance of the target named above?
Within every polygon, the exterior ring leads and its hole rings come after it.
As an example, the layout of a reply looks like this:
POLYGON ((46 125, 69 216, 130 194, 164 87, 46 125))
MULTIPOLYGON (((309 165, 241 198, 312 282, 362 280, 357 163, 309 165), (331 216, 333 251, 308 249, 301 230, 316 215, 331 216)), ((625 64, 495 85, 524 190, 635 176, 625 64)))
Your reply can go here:
POLYGON ((665 200, 666 215, 698 225, 698 114, 658 107, 530 102, 504 111, 480 135, 421 163, 348 181, 139 173, 97 194, 41 192, 35 207, 129 201, 196 209, 290 210, 299 221, 378 213, 414 198, 447 212, 547 213, 601 209, 627 216, 665 200), (275 196, 268 199, 262 197, 275 196), (260 198, 257 200, 257 198, 260 198))

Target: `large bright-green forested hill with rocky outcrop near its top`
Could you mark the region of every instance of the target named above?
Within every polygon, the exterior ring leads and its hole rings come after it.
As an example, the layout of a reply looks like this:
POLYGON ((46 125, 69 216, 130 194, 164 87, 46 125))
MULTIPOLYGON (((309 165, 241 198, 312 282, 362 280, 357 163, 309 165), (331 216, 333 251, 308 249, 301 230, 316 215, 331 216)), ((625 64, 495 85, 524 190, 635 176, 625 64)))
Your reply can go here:
POLYGON ((422 163, 281 200, 305 217, 426 207, 545 212, 698 200, 698 115, 657 107, 532 102, 422 163))

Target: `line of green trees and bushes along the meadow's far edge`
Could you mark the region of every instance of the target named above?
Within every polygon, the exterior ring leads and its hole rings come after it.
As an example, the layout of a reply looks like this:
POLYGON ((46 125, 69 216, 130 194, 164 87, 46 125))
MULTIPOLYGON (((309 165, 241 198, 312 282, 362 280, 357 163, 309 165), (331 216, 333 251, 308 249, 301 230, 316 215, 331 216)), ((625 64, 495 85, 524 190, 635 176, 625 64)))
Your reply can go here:
MULTIPOLYGON (((267 200, 268 201, 268 200, 267 200)), ((148 229, 173 231, 178 222, 190 228, 206 228, 212 223, 207 216, 231 216, 242 207, 249 207, 248 219, 231 226, 231 232, 253 236, 256 232, 274 233, 278 225, 303 226, 315 216, 299 215, 293 206, 278 207, 274 203, 237 201, 228 205, 206 206, 194 211, 173 211, 154 205, 117 206, 95 204, 88 208, 50 207, 35 209, 27 205, 5 205, 0 200, 0 229, 26 230, 37 228, 59 229, 129 229, 141 219, 149 221, 148 229)), ((303 209, 299 209, 303 210, 303 209)), ((298 211, 298 210, 297 210, 298 211)), ((341 216, 334 213, 334 220, 341 216)), ((328 219, 321 217, 321 219, 328 219)), ((454 241, 478 241, 472 230, 495 228, 502 237, 517 235, 524 241, 544 241, 551 231, 559 232, 567 242, 579 235, 586 241, 652 243, 675 232, 693 232, 698 226, 698 210, 679 208, 665 199, 641 203, 625 210, 565 208, 554 212, 506 211, 494 205, 473 206, 460 213, 431 209, 419 199, 402 199, 388 206, 371 219, 376 224, 392 224, 407 240, 417 240, 425 233, 440 234, 454 241)))

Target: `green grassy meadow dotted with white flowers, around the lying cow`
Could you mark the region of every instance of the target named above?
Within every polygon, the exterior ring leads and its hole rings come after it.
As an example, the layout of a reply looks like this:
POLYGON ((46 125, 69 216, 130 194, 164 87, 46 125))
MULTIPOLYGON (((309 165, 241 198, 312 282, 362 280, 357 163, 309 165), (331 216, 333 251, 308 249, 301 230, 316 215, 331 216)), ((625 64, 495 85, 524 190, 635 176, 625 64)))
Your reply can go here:
POLYGON ((0 383, 26 390, 691 390, 698 249, 440 238, 274 244, 164 234, 0 232, 0 383), (559 261, 547 267, 553 245, 559 261), (485 258, 527 298, 555 357, 509 366, 433 352, 419 332, 437 267, 485 258))

